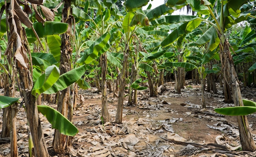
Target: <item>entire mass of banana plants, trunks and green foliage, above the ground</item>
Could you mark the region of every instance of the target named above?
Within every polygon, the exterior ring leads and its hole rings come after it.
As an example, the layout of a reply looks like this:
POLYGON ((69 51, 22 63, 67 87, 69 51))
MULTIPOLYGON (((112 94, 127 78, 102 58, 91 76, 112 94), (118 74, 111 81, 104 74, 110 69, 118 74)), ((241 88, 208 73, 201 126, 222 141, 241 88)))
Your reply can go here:
MULTIPOLYGON (((181 93, 187 71, 201 83, 202 108, 206 107, 205 80, 207 90, 216 93, 218 79, 225 101, 237 106, 228 110, 241 115, 237 119, 243 150, 255 151, 245 116, 248 105, 243 107, 248 102, 243 103, 239 89, 239 81, 245 86, 256 84, 255 2, 166 0, 145 10, 141 7, 149 0, 126 0, 124 6, 119 0, 118 7, 116 2, 0 1, 2 137, 11 137, 11 157, 18 156, 19 104, 26 109, 35 155, 49 157, 38 112, 56 129, 54 151, 63 153, 78 132, 72 112, 79 88, 91 85, 102 92, 103 122, 109 121, 107 88, 118 92, 115 123, 122 123, 125 89, 129 90, 128 104, 137 104, 137 90, 149 88, 150 96, 157 96, 164 78, 173 75, 181 93), (196 16, 172 15, 188 5, 196 16), (240 29, 236 28, 239 22, 243 22, 240 29), (19 98, 14 96, 16 91, 19 98), (57 110, 40 105, 42 96, 49 101, 52 94, 56 94, 57 110), (243 114, 236 112, 241 108, 243 114)), ((255 111, 255 103, 249 104, 250 112, 255 111)))

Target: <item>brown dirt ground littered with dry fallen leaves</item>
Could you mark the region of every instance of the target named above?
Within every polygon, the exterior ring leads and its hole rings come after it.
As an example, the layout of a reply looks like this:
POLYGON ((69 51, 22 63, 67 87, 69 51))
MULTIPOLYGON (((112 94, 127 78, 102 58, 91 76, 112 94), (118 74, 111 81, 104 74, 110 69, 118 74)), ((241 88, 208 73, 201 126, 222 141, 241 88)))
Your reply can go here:
MULTIPOLYGON (((124 102, 123 123, 116 124, 117 98, 108 93, 110 122, 101 124, 101 93, 96 88, 79 91, 74 124, 79 133, 65 155, 52 153, 54 129, 45 117, 40 119, 50 155, 58 157, 255 157, 256 152, 241 151, 236 117, 221 116, 213 109, 233 106, 224 103, 223 89, 218 94, 205 92, 207 108, 201 110, 200 85, 188 85, 176 94, 173 83, 158 97, 138 92, 138 105, 124 102), (79 102, 80 101, 80 102, 79 102)), ((245 99, 256 101, 256 88, 241 87, 245 99)), ((2 91, 3 93, 3 91, 2 91)), ((126 98, 127 99, 127 98, 126 98)), ((56 104, 42 102, 56 108, 56 104)), ((248 121, 256 141, 256 114, 248 121)), ((2 110, 0 112, 2 119, 2 110)), ((26 115, 17 116, 19 157, 28 157, 26 115)), ((2 130, 2 121, 0 121, 2 130)), ((0 157, 10 157, 10 144, 0 145, 0 157)))

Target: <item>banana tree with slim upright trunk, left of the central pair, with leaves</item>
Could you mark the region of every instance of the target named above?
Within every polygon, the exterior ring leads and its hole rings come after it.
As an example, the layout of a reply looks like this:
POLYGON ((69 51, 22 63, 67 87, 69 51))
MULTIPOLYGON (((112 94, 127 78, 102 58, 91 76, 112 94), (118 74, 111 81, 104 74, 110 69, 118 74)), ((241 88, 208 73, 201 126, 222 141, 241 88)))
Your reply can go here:
MULTIPOLYGON (((100 56, 99 69, 101 70, 101 87, 99 87, 99 89, 102 92, 101 111, 104 122, 109 121, 107 101, 107 76, 109 76, 107 73, 107 61, 109 59, 107 53, 108 49, 110 48, 110 45, 112 45, 112 43, 114 43, 116 40, 113 37, 119 38, 118 36, 121 36, 121 33, 117 34, 115 31, 113 31, 113 29, 116 30, 115 27, 122 17, 121 13, 117 9, 115 2, 116 0, 103 0, 102 2, 99 0, 91 1, 91 3, 88 4, 88 8, 90 10, 95 9, 95 6, 97 6, 96 15, 92 13, 93 17, 88 16, 86 11, 81 11, 77 8, 73 11, 74 15, 77 16, 81 21, 86 20, 85 18, 88 18, 88 21, 90 21, 88 25, 86 24, 87 28, 85 29, 85 32, 90 33, 90 40, 92 41, 92 44, 90 45, 89 49, 85 50, 85 54, 83 54, 82 58, 78 60, 78 63, 88 64, 91 62, 89 60, 97 59, 100 56)), ((117 32, 120 31, 117 30, 117 32)), ((98 77, 100 78, 100 76, 98 77)))

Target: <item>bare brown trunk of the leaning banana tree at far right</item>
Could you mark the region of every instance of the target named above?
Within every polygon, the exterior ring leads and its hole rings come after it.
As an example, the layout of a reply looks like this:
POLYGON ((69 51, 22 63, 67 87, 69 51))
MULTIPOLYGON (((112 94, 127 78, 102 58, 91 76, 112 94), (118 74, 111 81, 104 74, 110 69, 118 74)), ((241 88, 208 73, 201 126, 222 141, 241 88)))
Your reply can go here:
MULTIPOLYGON (((243 106, 243 100, 239 88, 238 77, 234 68, 233 58, 229 49, 229 42, 225 40, 223 45, 220 45, 220 58, 222 61, 222 69, 224 79, 227 81, 227 87, 231 87, 235 106, 243 106)), ((249 129, 249 124, 246 116, 238 116, 238 128, 240 132, 240 141, 244 151, 254 152, 256 150, 252 134, 249 129)))

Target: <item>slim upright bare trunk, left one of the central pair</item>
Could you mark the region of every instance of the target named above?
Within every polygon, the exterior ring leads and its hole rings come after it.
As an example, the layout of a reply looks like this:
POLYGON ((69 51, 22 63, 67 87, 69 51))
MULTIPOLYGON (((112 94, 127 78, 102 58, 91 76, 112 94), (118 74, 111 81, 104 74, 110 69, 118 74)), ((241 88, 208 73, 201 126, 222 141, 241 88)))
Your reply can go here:
POLYGON ((107 55, 106 52, 101 55, 101 115, 103 118, 103 122, 106 123, 109 121, 109 114, 108 114, 108 97, 107 97, 107 55))

